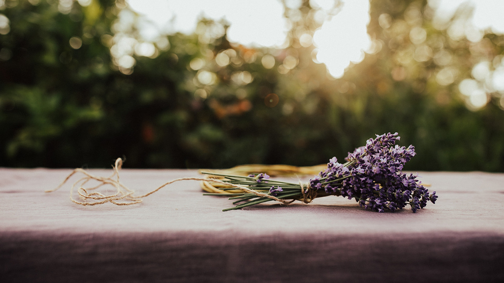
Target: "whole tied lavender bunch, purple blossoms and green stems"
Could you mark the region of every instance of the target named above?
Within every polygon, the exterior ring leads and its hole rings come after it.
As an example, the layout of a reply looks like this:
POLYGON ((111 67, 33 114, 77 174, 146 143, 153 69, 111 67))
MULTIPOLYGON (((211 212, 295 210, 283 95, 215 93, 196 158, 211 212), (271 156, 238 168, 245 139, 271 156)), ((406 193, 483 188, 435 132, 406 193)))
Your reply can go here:
POLYGON ((425 207, 428 201, 434 203, 437 195, 435 192, 429 194, 416 179, 417 176, 402 173, 404 164, 415 156, 415 148, 399 147, 396 145, 399 139, 397 132, 376 135, 376 138, 368 139, 365 146, 349 153, 345 163, 339 163, 333 157, 327 168, 308 183, 271 180, 264 173, 239 176, 202 172, 220 178, 215 182, 227 185, 221 190, 229 191, 206 195, 227 195, 235 200, 234 207, 223 211, 272 200, 309 203, 316 197, 340 195, 353 198, 360 206, 373 211, 394 211, 409 204, 411 210, 416 212, 425 207))

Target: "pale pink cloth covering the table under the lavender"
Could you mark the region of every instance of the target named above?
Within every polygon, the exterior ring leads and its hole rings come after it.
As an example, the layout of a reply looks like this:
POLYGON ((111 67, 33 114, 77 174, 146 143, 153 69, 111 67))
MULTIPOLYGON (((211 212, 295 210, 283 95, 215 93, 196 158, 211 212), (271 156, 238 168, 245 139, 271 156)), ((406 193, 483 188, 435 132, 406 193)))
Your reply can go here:
MULTIPOLYGON (((336 196, 222 212, 232 201, 197 181, 131 206, 44 193, 70 172, 0 169, 2 282, 504 281, 504 174, 420 172, 436 204, 378 214, 336 196)), ((198 176, 121 171, 139 193, 198 176)))

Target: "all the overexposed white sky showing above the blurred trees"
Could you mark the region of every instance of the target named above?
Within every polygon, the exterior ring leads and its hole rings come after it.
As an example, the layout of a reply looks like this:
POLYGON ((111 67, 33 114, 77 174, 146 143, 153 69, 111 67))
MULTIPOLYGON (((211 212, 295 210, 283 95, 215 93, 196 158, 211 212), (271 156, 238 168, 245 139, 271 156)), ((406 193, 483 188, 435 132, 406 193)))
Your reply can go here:
MULTIPOLYGON (((288 7, 299 7, 301 0, 286 0, 288 7)), ((363 59, 371 41, 366 33, 369 22, 369 0, 343 0, 342 10, 313 35, 319 49, 317 60, 326 64, 330 74, 339 78, 345 68, 363 59)), ((437 8, 437 17, 453 15, 456 8, 468 2, 475 6, 473 25, 504 33, 504 0, 429 0, 437 8)), ((161 31, 192 33, 201 16, 227 20, 228 40, 243 45, 280 46, 288 26, 281 3, 274 0, 128 0, 131 8, 146 15, 161 31)), ((334 0, 310 0, 314 7, 328 9, 334 0)))

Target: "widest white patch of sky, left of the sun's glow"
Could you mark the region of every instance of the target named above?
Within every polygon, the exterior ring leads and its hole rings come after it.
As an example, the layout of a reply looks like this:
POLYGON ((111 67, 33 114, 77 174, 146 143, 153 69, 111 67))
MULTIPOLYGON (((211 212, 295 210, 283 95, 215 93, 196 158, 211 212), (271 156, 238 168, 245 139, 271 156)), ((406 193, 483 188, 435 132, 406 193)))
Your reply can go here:
POLYGON ((287 34, 283 7, 278 1, 128 0, 130 7, 148 16, 162 33, 193 33, 202 17, 225 19, 231 25, 228 40, 244 45, 280 46, 287 34))

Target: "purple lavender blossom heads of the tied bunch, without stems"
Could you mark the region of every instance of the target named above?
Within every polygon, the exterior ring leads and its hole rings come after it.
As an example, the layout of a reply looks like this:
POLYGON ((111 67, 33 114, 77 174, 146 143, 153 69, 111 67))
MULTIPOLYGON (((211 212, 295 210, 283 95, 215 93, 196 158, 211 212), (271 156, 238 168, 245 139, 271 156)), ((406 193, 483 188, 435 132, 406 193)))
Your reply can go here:
POLYGON ((435 192, 429 195, 417 176, 402 173, 404 164, 415 156, 415 148, 396 145, 399 139, 397 132, 376 135, 365 146, 348 153, 345 164, 332 158, 327 169, 310 180, 310 187, 353 197, 360 206, 379 212, 402 209, 408 204, 416 212, 429 200, 434 203, 435 192))

